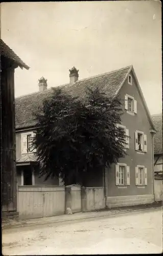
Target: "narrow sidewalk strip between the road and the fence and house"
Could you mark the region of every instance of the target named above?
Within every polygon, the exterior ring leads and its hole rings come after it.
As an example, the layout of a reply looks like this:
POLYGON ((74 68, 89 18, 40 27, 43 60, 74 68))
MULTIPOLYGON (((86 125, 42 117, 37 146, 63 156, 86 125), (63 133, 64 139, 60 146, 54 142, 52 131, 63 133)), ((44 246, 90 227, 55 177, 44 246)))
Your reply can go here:
POLYGON ((37 219, 28 219, 28 220, 21 220, 21 219, 4 219, 2 220, 2 228, 3 229, 13 229, 19 227, 26 227, 26 226, 38 226, 38 225, 49 225, 52 223, 61 223, 67 221, 76 221, 76 220, 83 220, 83 219, 90 219, 90 218, 97 218, 97 217, 114 217, 117 214, 123 214, 127 212, 134 212, 134 211, 142 211, 142 210, 150 210, 162 208, 162 203, 153 204, 145 204, 145 205, 135 205, 135 206, 127 206, 127 207, 120 207, 120 208, 112 208, 112 209, 102 209, 97 211, 91 212, 78 212, 73 215, 60 215, 60 216, 53 216, 53 217, 44 217, 44 218, 37 218, 37 219))

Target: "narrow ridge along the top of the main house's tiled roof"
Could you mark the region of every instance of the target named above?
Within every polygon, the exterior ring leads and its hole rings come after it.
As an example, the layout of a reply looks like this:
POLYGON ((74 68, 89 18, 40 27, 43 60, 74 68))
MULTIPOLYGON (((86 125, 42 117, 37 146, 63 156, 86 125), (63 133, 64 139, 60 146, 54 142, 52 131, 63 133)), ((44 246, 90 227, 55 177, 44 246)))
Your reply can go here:
POLYGON ((21 96, 18 96, 18 97, 16 97, 15 99, 18 99, 18 98, 23 98, 23 97, 26 97, 26 96, 29 96, 29 95, 34 95, 34 94, 41 94, 41 93, 44 93, 44 92, 47 92, 48 90, 51 90, 52 88, 57 88, 57 87, 64 87, 64 86, 69 86, 69 87, 71 87, 71 86, 73 86, 74 84, 77 84, 78 82, 83 82, 83 81, 87 81, 87 80, 89 80, 89 79, 91 79, 91 78, 97 78, 97 77, 102 77, 102 76, 104 76, 104 75, 106 75, 106 74, 111 74, 111 73, 114 73, 114 72, 117 72, 117 71, 121 71, 121 70, 125 70, 125 69, 129 69, 129 68, 131 68, 132 67, 132 65, 130 65, 130 66, 126 66, 126 67, 124 67, 124 68, 121 68, 121 69, 117 69, 117 70, 112 70, 112 71, 109 71, 109 72, 105 72, 105 73, 102 73, 102 74, 98 74, 98 75, 95 75, 95 76, 89 76, 89 77, 86 77, 86 78, 83 78, 83 79, 80 79, 80 80, 77 80, 76 82, 74 82, 74 83, 64 83, 64 84, 60 84, 59 86, 56 86, 56 87, 51 87, 51 88, 49 88, 49 89, 47 89, 47 90, 45 90, 45 91, 43 91, 43 92, 34 92, 34 93, 29 93, 29 94, 25 94, 25 95, 21 95, 21 96))

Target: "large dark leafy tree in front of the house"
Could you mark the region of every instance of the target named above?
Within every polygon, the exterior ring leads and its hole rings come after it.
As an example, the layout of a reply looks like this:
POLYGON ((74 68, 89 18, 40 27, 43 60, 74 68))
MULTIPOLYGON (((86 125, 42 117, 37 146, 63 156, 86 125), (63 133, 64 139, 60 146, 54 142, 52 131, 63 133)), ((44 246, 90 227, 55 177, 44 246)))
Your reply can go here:
POLYGON ((86 91, 85 102, 53 89, 36 115, 33 141, 45 179, 61 175, 64 184, 84 185, 88 174, 103 172, 104 166, 125 156, 121 123, 121 101, 99 89, 86 91))

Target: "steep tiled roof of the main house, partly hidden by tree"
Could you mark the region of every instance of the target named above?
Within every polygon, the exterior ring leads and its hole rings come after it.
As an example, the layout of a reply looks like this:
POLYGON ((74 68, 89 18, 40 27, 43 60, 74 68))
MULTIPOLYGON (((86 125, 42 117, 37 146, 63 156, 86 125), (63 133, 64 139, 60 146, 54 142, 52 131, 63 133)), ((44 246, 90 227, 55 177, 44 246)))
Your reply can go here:
MULTIPOLYGON (((85 98, 85 90, 87 87, 96 88, 100 87, 102 92, 107 96, 114 96, 121 88, 121 85, 126 78, 132 66, 123 69, 115 70, 112 72, 104 73, 101 75, 81 79, 73 84, 64 84, 59 86, 72 96, 79 96, 85 98)), ((15 122, 16 129, 31 127, 36 124, 32 112, 38 112, 42 106, 44 99, 51 97, 52 89, 43 92, 37 92, 20 96, 15 99, 15 122)))

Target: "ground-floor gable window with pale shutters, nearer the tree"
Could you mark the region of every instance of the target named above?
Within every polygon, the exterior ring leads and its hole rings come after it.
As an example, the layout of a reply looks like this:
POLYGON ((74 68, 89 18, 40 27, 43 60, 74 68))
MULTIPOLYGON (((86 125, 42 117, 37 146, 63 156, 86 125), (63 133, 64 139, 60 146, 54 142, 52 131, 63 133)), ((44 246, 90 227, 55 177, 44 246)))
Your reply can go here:
POLYGON ((130 167, 126 164, 115 165, 115 184, 119 186, 130 185, 130 167))

